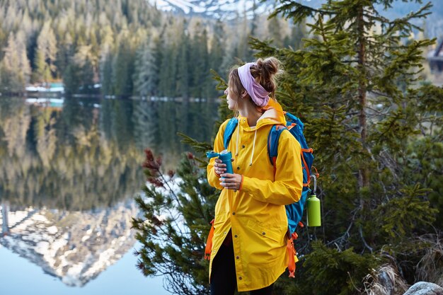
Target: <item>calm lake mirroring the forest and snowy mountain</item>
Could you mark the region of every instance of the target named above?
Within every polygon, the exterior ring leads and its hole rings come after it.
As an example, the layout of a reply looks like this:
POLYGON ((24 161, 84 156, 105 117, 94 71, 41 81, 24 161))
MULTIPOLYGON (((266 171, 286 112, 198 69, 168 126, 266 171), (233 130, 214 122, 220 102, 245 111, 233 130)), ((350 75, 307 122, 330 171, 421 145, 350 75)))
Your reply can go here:
POLYGON ((174 168, 217 105, 1 97, 0 294, 168 294, 135 266, 144 149, 174 168))

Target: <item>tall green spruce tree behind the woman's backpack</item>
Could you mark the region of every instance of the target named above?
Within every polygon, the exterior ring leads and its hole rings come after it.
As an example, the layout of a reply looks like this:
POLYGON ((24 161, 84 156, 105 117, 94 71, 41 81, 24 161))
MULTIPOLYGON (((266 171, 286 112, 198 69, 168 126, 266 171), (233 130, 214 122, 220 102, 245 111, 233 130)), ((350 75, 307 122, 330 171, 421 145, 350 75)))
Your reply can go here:
MULTIPOLYGON (((437 225, 432 208, 441 210, 435 183, 442 173, 435 168, 441 162, 442 89, 426 83, 418 88, 422 49, 434 41, 401 40, 412 28, 408 22, 426 16, 429 6, 390 21, 374 11, 375 2, 330 1, 311 9, 282 1, 276 13, 295 22, 313 16, 308 25, 314 36, 295 52, 259 40, 251 46, 259 57, 273 54, 284 62, 280 101, 306 118, 305 134, 321 174, 323 241, 374 254, 389 244, 403 260, 410 239, 437 225), (362 13, 367 21, 359 18, 362 13), (374 25, 381 33, 372 32, 374 25)), ((297 244, 301 253, 313 253, 309 242, 297 244)), ((352 294, 348 291, 344 294, 352 294)))

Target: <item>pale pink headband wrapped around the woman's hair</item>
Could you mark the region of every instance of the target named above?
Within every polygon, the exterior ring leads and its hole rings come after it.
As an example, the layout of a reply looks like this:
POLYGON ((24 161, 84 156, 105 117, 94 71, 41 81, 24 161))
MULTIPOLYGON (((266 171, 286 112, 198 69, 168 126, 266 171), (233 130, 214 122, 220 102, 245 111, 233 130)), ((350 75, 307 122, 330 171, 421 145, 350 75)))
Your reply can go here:
POLYGON ((238 76, 240 77, 241 84, 246 89, 249 96, 251 96, 255 105, 263 108, 269 101, 269 92, 267 92, 260 83, 257 83, 251 75, 249 68, 253 65, 256 66, 257 64, 255 64, 255 62, 248 62, 247 64, 240 66, 238 68, 238 76))

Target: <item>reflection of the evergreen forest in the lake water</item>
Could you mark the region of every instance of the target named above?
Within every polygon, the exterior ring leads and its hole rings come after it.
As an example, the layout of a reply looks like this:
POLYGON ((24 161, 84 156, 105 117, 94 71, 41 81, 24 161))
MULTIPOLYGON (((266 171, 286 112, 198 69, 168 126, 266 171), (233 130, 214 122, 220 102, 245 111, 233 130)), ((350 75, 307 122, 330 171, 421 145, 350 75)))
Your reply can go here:
POLYGON ((65 99, 41 108, 0 99, 0 198, 13 207, 86 210, 132 197, 144 182, 143 150, 174 168, 176 132, 209 140, 213 103, 65 99))

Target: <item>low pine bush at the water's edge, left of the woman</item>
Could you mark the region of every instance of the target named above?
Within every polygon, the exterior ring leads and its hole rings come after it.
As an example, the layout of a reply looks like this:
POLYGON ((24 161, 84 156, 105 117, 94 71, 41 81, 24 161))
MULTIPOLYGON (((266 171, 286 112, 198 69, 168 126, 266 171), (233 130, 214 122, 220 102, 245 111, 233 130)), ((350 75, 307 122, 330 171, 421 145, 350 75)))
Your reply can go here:
POLYGON ((150 185, 136 198, 143 216, 132 222, 143 245, 138 266, 145 275, 165 274, 174 294, 207 294, 209 264, 202 257, 218 192, 202 181, 206 173, 192 154, 183 155, 176 172, 163 174, 161 158, 145 153, 150 185))

